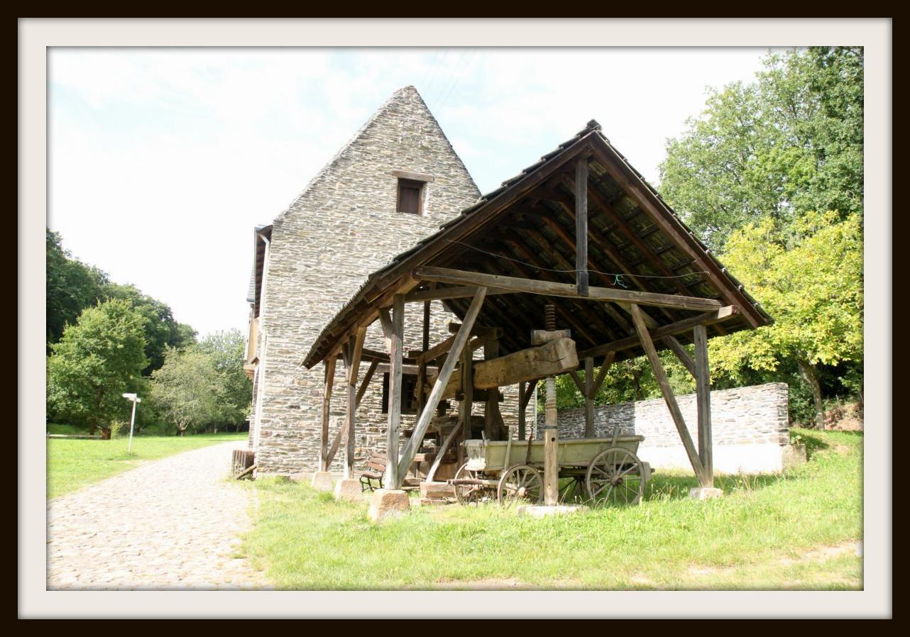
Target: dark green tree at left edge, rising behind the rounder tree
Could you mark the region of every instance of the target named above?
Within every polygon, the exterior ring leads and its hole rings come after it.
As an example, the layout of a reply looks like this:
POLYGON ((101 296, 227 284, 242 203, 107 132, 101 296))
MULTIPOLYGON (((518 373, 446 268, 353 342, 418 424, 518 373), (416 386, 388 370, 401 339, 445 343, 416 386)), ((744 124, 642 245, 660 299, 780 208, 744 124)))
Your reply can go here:
POLYGON ((46 295, 47 295, 47 351, 60 340, 67 325, 85 308, 94 306, 104 298, 102 288, 107 275, 92 266, 72 258, 63 249, 60 235, 45 228, 46 295))

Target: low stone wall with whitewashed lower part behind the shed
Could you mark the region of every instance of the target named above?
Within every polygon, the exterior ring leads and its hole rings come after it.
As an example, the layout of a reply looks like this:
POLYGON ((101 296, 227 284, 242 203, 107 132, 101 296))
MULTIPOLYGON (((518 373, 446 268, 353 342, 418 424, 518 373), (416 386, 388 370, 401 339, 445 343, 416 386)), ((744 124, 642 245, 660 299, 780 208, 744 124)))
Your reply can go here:
MULTIPOLYGON (((786 383, 768 383, 711 392, 714 470, 762 473, 784 470, 793 461, 787 417, 786 383)), ((698 446, 695 395, 677 396, 695 446, 698 446)), ((538 437, 543 413, 537 416, 538 437)), ((613 427, 644 436, 639 457, 654 468, 692 470, 670 411, 663 399, 594 408, 594 433, 609 437, 613 427)), ((584 410, 561 410, 561 438, 584 437, 584 410)))

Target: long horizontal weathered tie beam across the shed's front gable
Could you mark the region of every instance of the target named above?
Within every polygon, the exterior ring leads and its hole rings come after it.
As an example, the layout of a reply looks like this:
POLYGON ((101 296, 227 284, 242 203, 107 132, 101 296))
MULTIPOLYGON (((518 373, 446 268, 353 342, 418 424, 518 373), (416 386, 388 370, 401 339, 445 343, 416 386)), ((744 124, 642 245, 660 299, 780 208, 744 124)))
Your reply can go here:
MULTIPOLYGON (((502 275, 469 272, 451 268, 415 268, 414 277, 421 280, 440 283, 469 283, 493 288, 509 288, 518 292, 541 294, 553 297, 581 298, 578 288, 571 283, 556 283, 533 278, 504 277, 502 275)), ((720 309, 721 302, 713 298, 683 297, 674 294, 657 294, 655 292, 638 292, 627 289, 589 288, 585 298, 598 301, 612 301, 652 305, 662 308, 691 309, 693 311, 710 311, 720 309)))

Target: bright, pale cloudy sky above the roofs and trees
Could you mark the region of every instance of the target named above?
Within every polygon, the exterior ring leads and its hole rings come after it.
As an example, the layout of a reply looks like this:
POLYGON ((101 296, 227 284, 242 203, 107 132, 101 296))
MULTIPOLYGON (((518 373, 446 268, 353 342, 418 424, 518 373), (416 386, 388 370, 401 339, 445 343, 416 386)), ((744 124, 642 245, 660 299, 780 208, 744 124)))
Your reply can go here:
POLYGON ((654 185, 709 87, 764 48, 52 48, 47 227, 200 337, 246 333, 252 229, 401 86, 481 192, 596 119, 654 185))

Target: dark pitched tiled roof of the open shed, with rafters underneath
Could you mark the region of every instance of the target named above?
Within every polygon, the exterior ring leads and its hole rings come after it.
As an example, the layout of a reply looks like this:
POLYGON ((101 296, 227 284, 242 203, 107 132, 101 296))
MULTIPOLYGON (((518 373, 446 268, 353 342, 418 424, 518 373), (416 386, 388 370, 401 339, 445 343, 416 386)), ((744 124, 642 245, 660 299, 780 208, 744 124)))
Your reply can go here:
MULTIPOLYGON (((311 368, 336 351, 352 329, 376 319, 379 308, 390 305, 392 295, 425 285, 412 277, 414 268, 437 266, 573 283, 573 179, 575 160, 581 157, 588 158, 591 285, 713 298, 735 306, 736 317, 723 327, 713 326, 718 334, 772 322, 591 120, 540 161, 370 274, 313 342, 303 364, 311 368)), ((527 293, 488 297, 477 323, 504 329, 501 354, 524 349, 531 345, 531 330, 543 327, 547 302, 556 305, 558 327, 571 329, 580 350, 627 339, 634 333, 628 314, 615 303, 527 293)), ((463 318, 470 298, 443 303, 463 318)), ((694 316, 688 310, 646 310, 652 328, 694 316)), ((632 340, 634 344, 617 351, 617 359, 642 354, 637 340, 632 340)))

